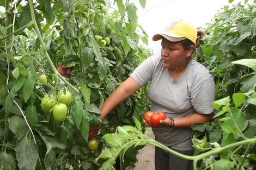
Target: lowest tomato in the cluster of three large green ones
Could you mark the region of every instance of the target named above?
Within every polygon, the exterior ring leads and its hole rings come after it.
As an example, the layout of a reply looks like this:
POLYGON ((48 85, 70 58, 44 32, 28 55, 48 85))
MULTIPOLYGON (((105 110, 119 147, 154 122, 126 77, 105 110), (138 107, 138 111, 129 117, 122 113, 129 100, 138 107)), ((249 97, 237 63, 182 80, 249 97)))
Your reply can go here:
POLYGON ((57 122, 63 122, 66 118, 66 114, 68 112, 68 108, 64 103, 56 104, 53 107, 52 115, 54 120, 57 122))

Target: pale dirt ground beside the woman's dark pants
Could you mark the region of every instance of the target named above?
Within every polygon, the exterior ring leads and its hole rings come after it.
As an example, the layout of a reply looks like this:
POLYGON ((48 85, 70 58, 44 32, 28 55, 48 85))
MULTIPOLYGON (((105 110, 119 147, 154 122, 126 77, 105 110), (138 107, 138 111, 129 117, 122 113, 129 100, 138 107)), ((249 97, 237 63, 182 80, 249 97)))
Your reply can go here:
MULTIPOLYGON (((151 138, 155 138, 153 132, 149 135, 151 138)), ((126 168, 125 170, 155 170, 155 146, 147 144, 144 148, 138 151, 137 155, 138 162, 135 164, 135 168, 126 168)))

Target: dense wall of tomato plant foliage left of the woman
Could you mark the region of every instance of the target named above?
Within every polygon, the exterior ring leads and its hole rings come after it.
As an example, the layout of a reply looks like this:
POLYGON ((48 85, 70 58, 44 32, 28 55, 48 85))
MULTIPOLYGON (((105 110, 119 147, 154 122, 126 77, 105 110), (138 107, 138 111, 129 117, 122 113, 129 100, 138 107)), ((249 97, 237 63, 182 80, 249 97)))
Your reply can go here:
MULTIPOLYGON (((100 119, 102 103, 115 85, 152 54, 138 43, 142 40, 147 44, 148 35, 138 25, 135 5, 115 4, 102 0, 82 0, 81 4, 74 0, 0 1, 5 8, 5 12, 0 11, 3 169, 100 169, 103 160, 94 160, 101 148, 109 147, 101 137, 109 133, 110 125, 133 124, 133 115, 142 121, 141 113, 149 108, 147 86, 100 119), (94 35, 109 37, 111 44, 102 46, 94 35), (56 69, 63 64, 74 67, 69 78, 56 69), (47 75, 47 84, 38 81, 40 73, 47 75), (65 116, 64 111, 57 119, 58 107, 53 109, 53 103, 57 105, 60 99, 51 102, 49 108, 49 101, 43 99, 41 105, 41 100, 45 95, 57 97, 60 89, 69 89, 72 102, 68 114, 65 116), (53 114, 45 114, 51 109, 53 114), (96 152, 89 152, 85 144, 89 124, 101 125, 94 138, 102 147, 96 152)), ((134 166, 138 149, 130 149, 132 154, 127 152, 121 166, 134 166)))

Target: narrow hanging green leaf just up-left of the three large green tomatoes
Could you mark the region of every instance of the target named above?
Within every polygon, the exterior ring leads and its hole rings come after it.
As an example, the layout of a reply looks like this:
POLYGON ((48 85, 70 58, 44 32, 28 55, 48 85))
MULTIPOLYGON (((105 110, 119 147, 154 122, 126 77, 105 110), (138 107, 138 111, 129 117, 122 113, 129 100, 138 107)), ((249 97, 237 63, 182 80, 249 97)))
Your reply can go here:
POLYGON ((34 93, 34 86, 35 86, 35 81, 36 81, 36 75, 28 71, 28 77, 24 82, 22 91, 23 91, 23 98, 25 102, 31 97, 31 95, 34 93))

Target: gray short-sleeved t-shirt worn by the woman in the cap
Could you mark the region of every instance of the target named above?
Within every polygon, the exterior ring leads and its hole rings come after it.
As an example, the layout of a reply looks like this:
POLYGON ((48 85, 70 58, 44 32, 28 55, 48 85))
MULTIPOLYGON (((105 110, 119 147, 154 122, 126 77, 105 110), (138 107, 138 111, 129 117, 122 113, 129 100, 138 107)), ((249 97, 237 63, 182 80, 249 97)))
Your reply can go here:
MULTIPOLYGON (((161 55, 144 60, 130 75, 144 86, 150 81, 148 98, 151 111, 166 112, 167 117, 186 117, 195 112, 214 111, 215 83, 211 72, 190 58, 186 71, 176 80, 163 67, 161 55)), ((156 141, 178 150, 192 150, 191 128, 152 128, 156 141)))

